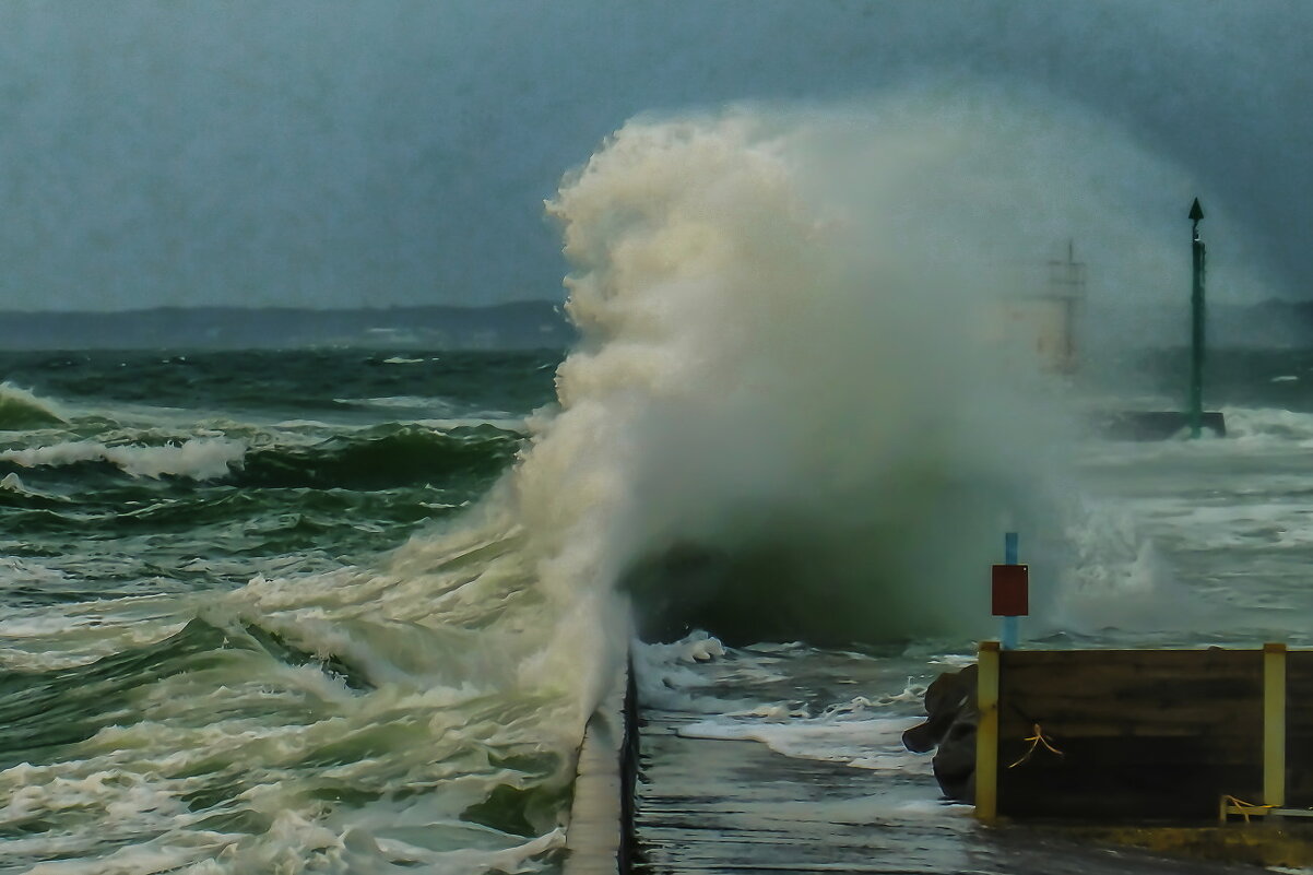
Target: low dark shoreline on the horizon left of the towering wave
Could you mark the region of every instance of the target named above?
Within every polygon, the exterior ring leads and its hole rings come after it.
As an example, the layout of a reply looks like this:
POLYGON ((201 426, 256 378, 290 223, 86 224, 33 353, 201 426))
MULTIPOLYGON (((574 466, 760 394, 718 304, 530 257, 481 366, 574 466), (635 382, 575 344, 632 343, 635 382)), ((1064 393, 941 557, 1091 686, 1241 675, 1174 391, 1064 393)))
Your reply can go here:
POLYGON ((567 347, 550 301, 486 307, 355 310, 154 307, 108 313, 0 311, 0 349, 255 349, 323 346, 427 349, 567 347))

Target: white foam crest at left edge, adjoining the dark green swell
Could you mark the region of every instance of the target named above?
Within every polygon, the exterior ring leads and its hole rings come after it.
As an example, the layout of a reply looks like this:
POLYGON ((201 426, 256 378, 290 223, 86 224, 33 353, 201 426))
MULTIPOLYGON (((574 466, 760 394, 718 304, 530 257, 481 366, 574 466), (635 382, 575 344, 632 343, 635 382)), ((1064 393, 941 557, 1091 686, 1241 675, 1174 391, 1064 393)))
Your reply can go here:
POLYGON ((49 447, 7 449, 0 453, 0 460, 24 468, 59 468, 104 461, 118 466, 131 477, 173 476, 215 480, 227 476, 232 468, 240 468, 246 452, 246 441, 225 438, 189 438, 180 444, 169 443, 161 447, 106 445, 95 440, 79 440, 49 447))

